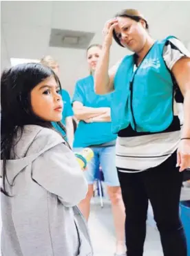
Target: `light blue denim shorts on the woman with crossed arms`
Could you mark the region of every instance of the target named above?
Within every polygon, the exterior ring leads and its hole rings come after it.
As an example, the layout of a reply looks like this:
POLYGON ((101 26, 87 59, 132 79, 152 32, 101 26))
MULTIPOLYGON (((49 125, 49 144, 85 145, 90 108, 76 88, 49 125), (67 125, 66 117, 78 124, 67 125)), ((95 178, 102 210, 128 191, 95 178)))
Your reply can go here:
MULTIPOLYGON (((93 184, 98 179, 101 167, 105 183, 111 187, 119 186, 116 170, 116 147, 91 147, 91 149, 94 151, 94 158, 88 163, 87 170, 84 172, 88 184, 93 184)), ((82 150, 82 147, 74 148, 74 152, 82 150)))

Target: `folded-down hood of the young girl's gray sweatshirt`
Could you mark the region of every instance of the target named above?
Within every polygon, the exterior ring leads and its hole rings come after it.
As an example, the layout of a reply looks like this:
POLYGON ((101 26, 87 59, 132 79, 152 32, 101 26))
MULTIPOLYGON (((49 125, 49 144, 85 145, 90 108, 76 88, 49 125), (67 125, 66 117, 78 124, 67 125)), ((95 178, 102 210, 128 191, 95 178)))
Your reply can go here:
MULTIPOLYGON (((25 125, 23 134, 20 135, 18 132, 15 138, 16 145, 11 154, 12 159, 6 162, 10 184, 13 183, 19 172, 30 165, 38 156, 60 143, 65 143, 65 140, 57 131, 38 125, 25 125), (54 136, 50 136, 52 132, 54 132, 54 136)), ((3 161, 1 160, 1 173, 2 168, 3 161)))

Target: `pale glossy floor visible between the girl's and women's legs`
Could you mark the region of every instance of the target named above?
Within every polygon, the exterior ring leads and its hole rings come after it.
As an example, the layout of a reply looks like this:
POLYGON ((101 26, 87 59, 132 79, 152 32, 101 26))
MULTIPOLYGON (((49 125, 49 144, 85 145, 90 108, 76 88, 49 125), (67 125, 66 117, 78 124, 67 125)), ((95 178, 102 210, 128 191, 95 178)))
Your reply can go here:
MULTIPOLYGON (((98 199, 92 202, 89 230, 94 246, 94 256, 114 256, 115 237, 110 204, 101 205, 98 199)), ((147 226, 145 256, 163 256, 158 231, 147 226)))

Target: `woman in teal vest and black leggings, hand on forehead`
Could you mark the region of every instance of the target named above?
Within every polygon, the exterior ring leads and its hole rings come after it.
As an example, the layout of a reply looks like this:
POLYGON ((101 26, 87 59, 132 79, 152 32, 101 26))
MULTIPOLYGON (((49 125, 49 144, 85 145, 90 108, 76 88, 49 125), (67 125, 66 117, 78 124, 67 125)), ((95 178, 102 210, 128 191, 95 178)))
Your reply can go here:
POLYGON ((112 131, 118 134, 116 167, 126 209, 127 256, 143 254, 148 201, 164 255, 187 256, 178 212, 182 171, 190 166, 190 54, 176 37, 156 41, 148 28, 137 10, 123 10, 107 21, 95 91, 114 91, 112 131), (134 54, 108 71, 112 37, 134 54), (184 118, 179 113, 183 100, 184 118))

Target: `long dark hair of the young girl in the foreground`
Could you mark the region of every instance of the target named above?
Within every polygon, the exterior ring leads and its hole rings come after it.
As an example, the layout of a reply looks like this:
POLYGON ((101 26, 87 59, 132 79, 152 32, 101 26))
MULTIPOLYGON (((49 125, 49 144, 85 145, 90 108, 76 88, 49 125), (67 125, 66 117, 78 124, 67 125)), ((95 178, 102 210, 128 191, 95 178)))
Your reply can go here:
MULTIPOLYGON (((12 157, 12 153, 14 154, 14 138, 17 138, 20 132, 22 136, 25 125, 40 125, 54 129, 51 122, 42 120, 34 114, 30 98, 32 89, 51 76, 61 89, 59 78, 54 71, 38 63, 19 64, 3 71, 1 75, 1 160, 3 160, 1 192, 6 195, 8 195, 5 189, 6 161, 12 157)), ((66 131, 61 122, 57 123, 66 131)))

